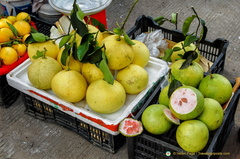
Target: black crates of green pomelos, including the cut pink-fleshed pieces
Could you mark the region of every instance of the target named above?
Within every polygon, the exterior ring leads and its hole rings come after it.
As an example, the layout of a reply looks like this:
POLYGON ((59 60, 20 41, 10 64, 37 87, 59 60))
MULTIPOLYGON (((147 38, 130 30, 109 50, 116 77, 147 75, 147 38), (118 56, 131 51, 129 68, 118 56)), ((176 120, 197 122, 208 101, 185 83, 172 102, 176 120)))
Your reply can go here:
MULTIPOLYGON (((162 28, 152 17, 146 16, 140 16, 128 34, 136 38, 141 33, 158 29, 168 40, 184 41, 181 31, 162 28)), ((157 87, 133 117, 135 124, 121 123, 120 131, 129 136, 129 158, 199 159, 227 155, 221 150, 234 125, 240 96, 239 81, 230 82, 220 74, 224 69, 227 40, 204 39, 199 46, 200 54, 213 62, 210 72, 202 71, 198 76, 195 62, 189 66, 196 67, 192 73, 189 67, 180 69, 183 60, 178 59, 170 65, 170 84, 157 87), (194 76, 190 77, 189 72, 194 76), (128 129, 132 134, 127 133, 128 129)))

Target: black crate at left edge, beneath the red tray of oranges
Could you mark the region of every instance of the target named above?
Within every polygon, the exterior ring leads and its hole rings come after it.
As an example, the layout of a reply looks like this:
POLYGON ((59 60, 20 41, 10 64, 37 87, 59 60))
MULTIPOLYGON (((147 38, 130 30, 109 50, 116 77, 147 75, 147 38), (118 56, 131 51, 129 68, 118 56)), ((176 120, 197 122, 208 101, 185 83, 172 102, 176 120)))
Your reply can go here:
POLYGON ((0 106, 8 108, 18 98, 19 91, 8 85, 6 75, 0 76, 0 106))

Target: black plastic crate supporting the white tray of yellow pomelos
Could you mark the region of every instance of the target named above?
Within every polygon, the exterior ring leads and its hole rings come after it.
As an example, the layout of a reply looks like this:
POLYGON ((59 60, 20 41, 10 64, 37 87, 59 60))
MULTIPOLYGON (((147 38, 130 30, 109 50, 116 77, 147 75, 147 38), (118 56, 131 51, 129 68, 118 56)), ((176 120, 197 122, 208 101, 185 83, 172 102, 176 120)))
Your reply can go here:
POLYGON ((121 134, 112 135, 104 132, 22 92, 21 97, 25 105, 26 114, 40 120, 56 123, 74 131, 93 145, 96 145, 110 153, 116 153, 117 150, 126 142, 126 138, 121 134))

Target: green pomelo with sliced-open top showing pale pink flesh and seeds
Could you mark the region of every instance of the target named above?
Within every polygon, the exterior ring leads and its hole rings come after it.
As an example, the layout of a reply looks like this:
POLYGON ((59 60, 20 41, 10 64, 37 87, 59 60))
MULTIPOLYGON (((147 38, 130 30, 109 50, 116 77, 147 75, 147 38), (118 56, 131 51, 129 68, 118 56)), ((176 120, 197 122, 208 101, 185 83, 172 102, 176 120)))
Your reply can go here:
POLYGON ((204 109, 204 97, 195 87, 181 86, 172 93, 169 108, 180 120, 194 119, 204 109))

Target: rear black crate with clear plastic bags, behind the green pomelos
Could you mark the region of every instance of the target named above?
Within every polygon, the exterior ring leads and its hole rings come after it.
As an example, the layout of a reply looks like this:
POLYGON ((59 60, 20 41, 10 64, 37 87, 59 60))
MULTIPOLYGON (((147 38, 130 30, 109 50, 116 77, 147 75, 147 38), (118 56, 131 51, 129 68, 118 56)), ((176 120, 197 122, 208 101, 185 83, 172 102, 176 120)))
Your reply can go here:
MULTIPOLYGON (((152 17, 142 15, 140 16, 135 25, 127 32, 127 34, 135 39, 137 35, 141 33, 151 32, 157 29, 161 29, 165 39, 173 42, 180 42, 185 39, 184 35, 179 30, 169 30, 159 26, 152 17)), ((200 43, 200 54, 207 60, 213 62, 210 68, 212 73, 221 73, 224 69, 226 51, 229 45, 228 40, 223 38, 217 38, 214 41, 203 40, 200 43)))

